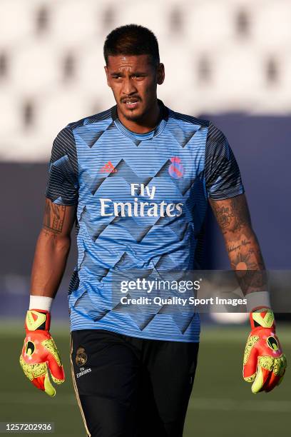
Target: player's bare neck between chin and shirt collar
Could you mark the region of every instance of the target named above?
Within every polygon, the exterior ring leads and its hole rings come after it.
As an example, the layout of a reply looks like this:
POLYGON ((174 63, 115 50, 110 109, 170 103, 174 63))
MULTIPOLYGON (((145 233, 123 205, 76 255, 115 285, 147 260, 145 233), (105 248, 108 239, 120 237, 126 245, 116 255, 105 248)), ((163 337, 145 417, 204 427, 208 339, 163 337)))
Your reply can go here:
POLYGON ((145 116, 143 116, 143 119, 138 121, 126 119, 117 108, 118 119, 123 126, 126 126, 129 131, 132 131, 135 134, 146 134, 153 131, 160 121, 160 112, 161 109, 158 100, 155 101, 155 105, 147 111, 145 116))

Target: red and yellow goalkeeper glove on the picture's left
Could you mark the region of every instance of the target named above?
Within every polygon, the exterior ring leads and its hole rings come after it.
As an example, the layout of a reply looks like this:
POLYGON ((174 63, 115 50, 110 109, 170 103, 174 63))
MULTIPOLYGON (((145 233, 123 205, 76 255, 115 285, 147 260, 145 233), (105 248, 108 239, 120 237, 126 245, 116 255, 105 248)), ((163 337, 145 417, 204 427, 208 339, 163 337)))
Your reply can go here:
POLYGON ((51 384, 51 378, 56 384, 65 381, 65 374, 56 344, 48 332, 51 316, 48 311, 31 309, 26 313, 26 338, 20 356, 20 365, 29 380, 49 396, 55 396, 56 390, 51 384))

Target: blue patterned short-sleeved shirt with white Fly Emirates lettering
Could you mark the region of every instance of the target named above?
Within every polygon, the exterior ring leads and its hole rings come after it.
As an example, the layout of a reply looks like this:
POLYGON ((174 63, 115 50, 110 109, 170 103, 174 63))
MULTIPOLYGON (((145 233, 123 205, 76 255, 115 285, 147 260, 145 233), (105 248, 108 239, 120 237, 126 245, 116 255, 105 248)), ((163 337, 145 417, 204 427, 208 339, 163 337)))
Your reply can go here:
POLYGON ((158 102, 162 117, 146 134, 129 131, 113 106, 68 124, 53 141, 46 197, 77 205, 71 331, 199 341, 198 313, 136 313, 112 299, 119 269, 199 269, 208 198, 244 192, 223 133, 158 102))

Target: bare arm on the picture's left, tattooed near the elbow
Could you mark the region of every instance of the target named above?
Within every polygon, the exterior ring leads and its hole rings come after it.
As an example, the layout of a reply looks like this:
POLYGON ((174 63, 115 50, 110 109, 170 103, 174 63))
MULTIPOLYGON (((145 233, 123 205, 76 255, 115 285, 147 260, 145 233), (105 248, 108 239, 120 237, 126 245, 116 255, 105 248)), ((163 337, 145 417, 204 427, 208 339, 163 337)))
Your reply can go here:
POLYGON ((56 295, 71 247, 75 214, 76 206, 53 204, 46 198, 31 272, 31 294, 52 298, 56 295))

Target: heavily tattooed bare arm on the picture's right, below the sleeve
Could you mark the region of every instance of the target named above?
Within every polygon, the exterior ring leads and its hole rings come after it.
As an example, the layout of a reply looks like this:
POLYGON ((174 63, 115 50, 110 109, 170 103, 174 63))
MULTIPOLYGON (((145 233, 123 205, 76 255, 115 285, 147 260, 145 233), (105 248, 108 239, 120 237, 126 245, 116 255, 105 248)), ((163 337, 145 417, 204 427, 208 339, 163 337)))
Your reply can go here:
POLYGON ((230 265, 237 273, 242 292, 266 291, 265 264, 252 229, 245 194, 224 200, 210 199, 210 206, 223 233, 230 265))

